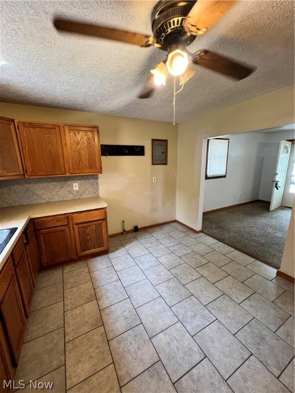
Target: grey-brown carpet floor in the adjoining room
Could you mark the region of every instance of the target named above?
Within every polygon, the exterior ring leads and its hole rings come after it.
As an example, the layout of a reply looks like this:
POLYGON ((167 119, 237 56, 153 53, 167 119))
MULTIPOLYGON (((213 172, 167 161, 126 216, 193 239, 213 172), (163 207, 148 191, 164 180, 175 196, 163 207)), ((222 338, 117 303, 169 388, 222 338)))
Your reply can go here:
POLYGON ((203 216, 203 231, 245 254, 280 268, 291 209, 255 202, 203 216))

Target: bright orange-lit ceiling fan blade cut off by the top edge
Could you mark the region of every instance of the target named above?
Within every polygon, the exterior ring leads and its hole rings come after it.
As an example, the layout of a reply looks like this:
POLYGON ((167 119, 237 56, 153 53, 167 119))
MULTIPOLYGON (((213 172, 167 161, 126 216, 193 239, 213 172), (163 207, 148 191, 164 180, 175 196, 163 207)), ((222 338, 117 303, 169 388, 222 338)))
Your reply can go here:
POLYGON ((198 0, 184 20, 184 30, 189 35, 203 34, 236 3, 236 0, 198 0))

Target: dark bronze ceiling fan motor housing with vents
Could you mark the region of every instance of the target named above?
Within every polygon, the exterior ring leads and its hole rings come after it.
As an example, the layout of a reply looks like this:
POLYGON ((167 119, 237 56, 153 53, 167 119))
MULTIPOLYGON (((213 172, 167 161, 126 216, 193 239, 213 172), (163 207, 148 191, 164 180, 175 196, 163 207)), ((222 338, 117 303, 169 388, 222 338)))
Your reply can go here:
POLYGON ((183 22, 196 1, 159 1, 152 12, 152 31, 160 49, 166 51, 172 45, 186 47, 196 36, 187 35, 183 22))

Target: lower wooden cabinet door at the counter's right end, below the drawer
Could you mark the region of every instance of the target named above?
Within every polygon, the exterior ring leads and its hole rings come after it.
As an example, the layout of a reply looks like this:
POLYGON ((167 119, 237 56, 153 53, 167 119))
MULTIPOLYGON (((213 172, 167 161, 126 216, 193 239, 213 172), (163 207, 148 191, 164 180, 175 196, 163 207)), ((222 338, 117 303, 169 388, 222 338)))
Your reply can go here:
POLYGON ((108 250, 107 220, 73 224, 73 228, 78 256, 108 250))

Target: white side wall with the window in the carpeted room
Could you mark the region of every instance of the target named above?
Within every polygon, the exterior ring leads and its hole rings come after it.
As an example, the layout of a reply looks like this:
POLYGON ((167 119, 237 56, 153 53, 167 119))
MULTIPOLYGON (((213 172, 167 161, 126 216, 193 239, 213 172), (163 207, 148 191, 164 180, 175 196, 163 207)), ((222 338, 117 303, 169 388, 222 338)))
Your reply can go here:
POLYGON ((259 198, 265 135, 226 136, 229 138, 226 178, 205 180, 204 211, 259 198))

